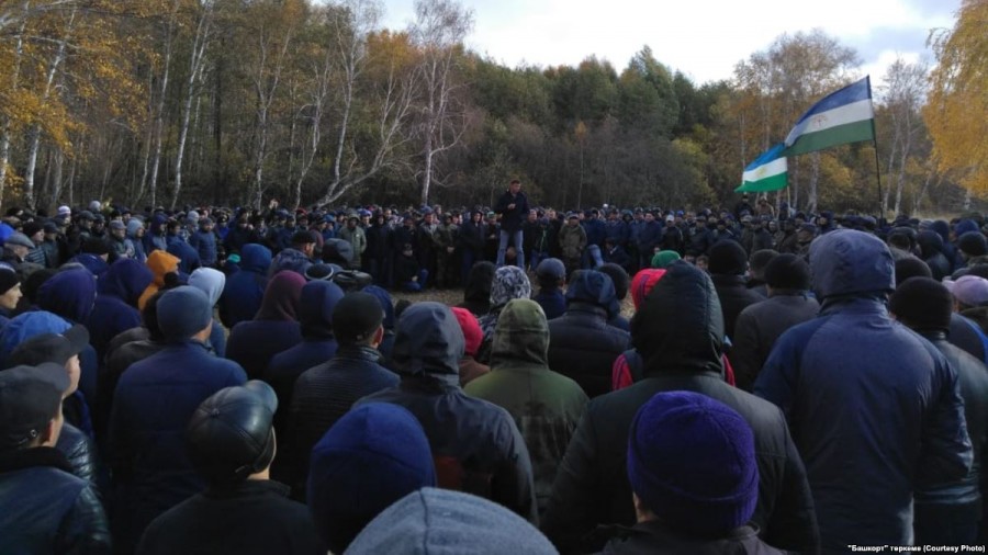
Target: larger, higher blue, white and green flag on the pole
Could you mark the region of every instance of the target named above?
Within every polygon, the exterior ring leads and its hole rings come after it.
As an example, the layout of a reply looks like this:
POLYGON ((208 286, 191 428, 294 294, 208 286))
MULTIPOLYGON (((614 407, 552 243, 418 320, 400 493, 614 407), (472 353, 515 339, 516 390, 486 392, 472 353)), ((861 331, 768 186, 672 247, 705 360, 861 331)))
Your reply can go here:
POLYGON ((875 138, 872 82, 865 77, 813 104, 786 137, 786 156, 875 138))

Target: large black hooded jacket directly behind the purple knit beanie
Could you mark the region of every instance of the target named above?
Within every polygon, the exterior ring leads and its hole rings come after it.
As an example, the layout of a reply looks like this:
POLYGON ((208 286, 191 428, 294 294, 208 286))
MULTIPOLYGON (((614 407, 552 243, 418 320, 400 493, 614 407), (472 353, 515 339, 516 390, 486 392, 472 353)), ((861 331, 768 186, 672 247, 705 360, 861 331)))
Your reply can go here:
POLYGON ((638 409, 660 392, 689 390, 737 410, 751 424, 759 465, 752 522, 770 545, 815 553, 819 535, 799 453, 782 411, 721 377, 723 321, 714 284, 685 262, 670 265, 631 320, 645 378, 591 400, 557 474, 542 531, 562 553, 599 550, 583 539, 600 524, 632 525, 626 464, 638 409))

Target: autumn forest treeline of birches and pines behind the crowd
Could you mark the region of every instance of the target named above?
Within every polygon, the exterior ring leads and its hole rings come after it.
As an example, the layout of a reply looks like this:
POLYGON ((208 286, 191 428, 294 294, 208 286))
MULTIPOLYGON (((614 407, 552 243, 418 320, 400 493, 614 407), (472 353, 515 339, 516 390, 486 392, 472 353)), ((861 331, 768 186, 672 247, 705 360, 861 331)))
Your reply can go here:
MULTIPOLYGON (((627 65, 509 68, 463 47, 472 13, 418 0, 0 1, 0 194, 187 203, 491 204, 518 178, 557 207, 732 203, 743 167, 861 77, 821 31, 696 83, 643 46, 627 65)), ((874 90, 876 154, 789 160, 772 194, 815 209, 956 211, 986 188, 988 1, 933 30, 936 64, 874 90), (980 23, 979 23, 980 22, 980 23)), ((647 42, 647 37, 645 37, 647 42)), ((682 68, 688 71, 688 68, 682 68)))

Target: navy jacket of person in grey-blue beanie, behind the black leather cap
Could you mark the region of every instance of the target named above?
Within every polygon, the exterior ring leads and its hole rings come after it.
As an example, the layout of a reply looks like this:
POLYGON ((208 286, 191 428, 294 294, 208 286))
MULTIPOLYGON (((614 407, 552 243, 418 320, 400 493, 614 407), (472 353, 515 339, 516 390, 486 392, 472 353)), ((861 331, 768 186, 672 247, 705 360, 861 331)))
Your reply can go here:
POLYGON ((136 362, 116 384, 110 418, 115 489, 114 539, 131 550, 158 514, 201 491, 205 483, 186 451, 195 408, 247 375, 205 344, 188 340, 136 362))

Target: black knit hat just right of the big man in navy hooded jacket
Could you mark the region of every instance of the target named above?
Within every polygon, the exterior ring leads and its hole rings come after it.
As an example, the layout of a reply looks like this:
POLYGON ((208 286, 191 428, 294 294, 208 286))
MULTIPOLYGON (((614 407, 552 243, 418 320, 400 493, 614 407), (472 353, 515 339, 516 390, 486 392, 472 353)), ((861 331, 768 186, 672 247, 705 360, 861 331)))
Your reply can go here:
POLYGON ((917 331, 947 331, 954 297, 945 285, 931 278, 910 278, 892 293, 888 309, 917 331))

